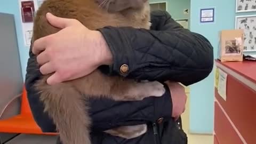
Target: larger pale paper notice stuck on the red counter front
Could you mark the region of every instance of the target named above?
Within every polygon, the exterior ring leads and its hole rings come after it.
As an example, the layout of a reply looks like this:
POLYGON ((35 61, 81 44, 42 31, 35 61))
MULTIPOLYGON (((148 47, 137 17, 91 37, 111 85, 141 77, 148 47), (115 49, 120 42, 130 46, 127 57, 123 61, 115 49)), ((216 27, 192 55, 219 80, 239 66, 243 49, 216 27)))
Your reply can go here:
POLYGON ((226 101, 227 100, 227 74, 222 71, 219 71, 219 81, 218 81, 218 93, 226 101))

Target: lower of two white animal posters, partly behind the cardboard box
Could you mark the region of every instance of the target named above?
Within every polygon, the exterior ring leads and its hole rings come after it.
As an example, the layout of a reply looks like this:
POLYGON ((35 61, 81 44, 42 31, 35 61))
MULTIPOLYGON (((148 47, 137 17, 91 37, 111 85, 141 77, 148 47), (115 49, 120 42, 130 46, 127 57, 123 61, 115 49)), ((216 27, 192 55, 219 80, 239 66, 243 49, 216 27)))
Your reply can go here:
POLYGON ((244 30, 244 51, 256 51, 256 15, 237 16, 235 28, 244 30))

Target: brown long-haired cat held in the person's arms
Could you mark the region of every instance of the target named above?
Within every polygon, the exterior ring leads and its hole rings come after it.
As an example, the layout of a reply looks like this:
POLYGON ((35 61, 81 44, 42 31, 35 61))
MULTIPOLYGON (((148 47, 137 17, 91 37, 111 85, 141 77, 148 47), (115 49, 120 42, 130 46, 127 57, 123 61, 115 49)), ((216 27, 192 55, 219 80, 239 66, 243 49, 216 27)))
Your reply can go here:
MULTIPOLYGON (((45 16, 47 12, 57 17, 77 19, 91 30, 105 26, 149 29, 151 26, 149 2, 131 0, 131 3, 127 3, 128 1, 46 0, 35 15, 32 44, 37 39, 60 30, 47 22, 45 16)), ((139 83, 121 76, 103 75, 98 69, 85 77, 50 86, 47 85, 46 79, 51 75, 42 76, 36 82, 35 89, 39 91, 39 98, 44 103, 44 111, 57 126, 63 144, 91 143, 88 98, 105 97, 116 101, 129 101, 142 100, 150 95, 161 97, 165 93, 164 86, 157 81, 139 83)), ((123 138, 133 138, 131 132, 139 130, 138 136, 145 133, 145 129, 144 124, 138 127, 117 127, 105 132, 123 138)))

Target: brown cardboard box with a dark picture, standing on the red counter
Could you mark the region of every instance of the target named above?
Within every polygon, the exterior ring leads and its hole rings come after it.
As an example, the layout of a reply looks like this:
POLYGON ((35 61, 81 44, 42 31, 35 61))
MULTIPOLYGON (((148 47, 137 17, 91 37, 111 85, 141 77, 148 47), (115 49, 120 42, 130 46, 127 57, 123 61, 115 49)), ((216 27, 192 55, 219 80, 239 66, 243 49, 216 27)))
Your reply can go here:
POLYGON ((243 61, 244 31, 220 31, 218 59, 220 61, 243 61))

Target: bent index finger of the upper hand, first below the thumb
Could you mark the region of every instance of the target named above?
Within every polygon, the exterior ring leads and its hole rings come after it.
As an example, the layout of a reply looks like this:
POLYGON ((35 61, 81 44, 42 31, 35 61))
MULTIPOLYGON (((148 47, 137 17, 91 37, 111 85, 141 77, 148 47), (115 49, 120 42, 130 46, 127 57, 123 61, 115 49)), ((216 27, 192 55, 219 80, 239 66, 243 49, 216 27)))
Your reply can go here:
POLYGON ((42 51, 45 50, 46 46, 47 46, 47 36, 46 37, 42 37, 37 39, 32 47, 32 52, 37 55, 39 53, 41 53, 42 51))

